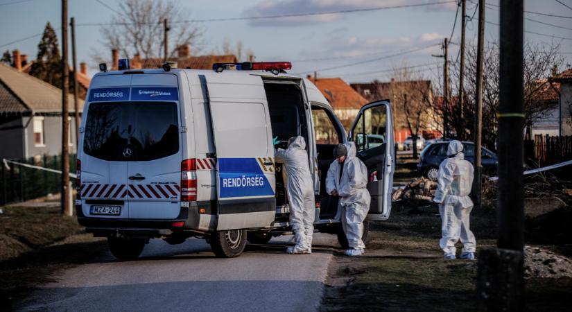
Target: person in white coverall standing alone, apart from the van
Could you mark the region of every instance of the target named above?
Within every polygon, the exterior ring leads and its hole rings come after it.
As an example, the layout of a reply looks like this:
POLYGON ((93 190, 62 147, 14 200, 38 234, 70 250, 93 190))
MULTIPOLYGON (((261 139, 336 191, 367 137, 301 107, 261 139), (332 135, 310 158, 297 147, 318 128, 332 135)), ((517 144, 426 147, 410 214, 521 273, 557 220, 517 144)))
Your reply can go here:
POLYGON ((476 241, 469 229, 473 202, 469 198, 473 184, 474 168, 465 160, 460 141, 453 140, 447 148, 447 159, 439 166, 437 191, 434 202, 439 203, 441 214, 440 248, 445 259, 456 258, 455 244, 462 243, 462 259, 475 259, 476 241))

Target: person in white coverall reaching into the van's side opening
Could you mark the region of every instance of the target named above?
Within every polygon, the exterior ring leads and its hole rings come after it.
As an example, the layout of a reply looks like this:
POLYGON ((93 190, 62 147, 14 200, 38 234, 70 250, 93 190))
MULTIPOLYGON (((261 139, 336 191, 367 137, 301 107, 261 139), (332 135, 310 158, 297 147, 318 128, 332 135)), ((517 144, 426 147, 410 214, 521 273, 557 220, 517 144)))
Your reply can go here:
POLYGON ((274 155, 276 162, 284 163, 286 167, 290 223, 296 241, 296 245, 286 251, 290 254, 309 254, 312 252, 315 208, 306 141, 300 136, 291 137, 288 149, 278 148, 274 155))

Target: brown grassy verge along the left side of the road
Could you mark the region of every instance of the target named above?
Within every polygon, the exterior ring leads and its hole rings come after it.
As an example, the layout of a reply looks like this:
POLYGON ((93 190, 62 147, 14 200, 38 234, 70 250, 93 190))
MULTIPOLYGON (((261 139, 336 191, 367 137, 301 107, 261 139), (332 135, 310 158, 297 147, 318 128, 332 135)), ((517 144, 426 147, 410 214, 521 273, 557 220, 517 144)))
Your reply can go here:
POLYGON ((103 239, 86 234, 75 218, 53 205, 3 207, 0 215, 0 310, 55 272, 84 263, 107 249, 103 239))

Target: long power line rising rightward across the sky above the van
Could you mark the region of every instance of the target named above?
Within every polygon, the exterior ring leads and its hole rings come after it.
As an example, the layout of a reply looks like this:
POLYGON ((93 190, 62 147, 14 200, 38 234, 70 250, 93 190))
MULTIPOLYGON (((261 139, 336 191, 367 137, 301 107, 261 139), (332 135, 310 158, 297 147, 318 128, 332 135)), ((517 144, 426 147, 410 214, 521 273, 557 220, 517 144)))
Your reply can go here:
MULTIPOLYGON (((265 15, 265 16, 251 16, 251 17, 225 17, 225 18, 214 18, 214 19, 187 19, 182 21, 172 21, 171 24, 181 24, 181 23, 202 23, 208 21, 244 21, 244 20, 254 20, 254 19, 278 19, 284 17, 303 17, 303 16, 315 16, 315 15, 331 15, 331 14, 345 14, 354 12, 370 12, 378 10, 392 10, 398 8, 417 8, 422 6, 435 6, 441 4, 447 4, 456 2, 453 1, 437 1, 430 3, 415 3, 415 4, 404 4, 401 6, 381 6, 377 8, 361 8, 361 9, 349 9, 349 10, 336 10, 336 11, 324 11, 324 12, 308 12, 308 13, 292 13, 284 15, 265 15)), ((85 23, 77 24, 76 26, 110 26, 110 25, 131 25, 131 24, 155 24, 155 23, 85 23)))

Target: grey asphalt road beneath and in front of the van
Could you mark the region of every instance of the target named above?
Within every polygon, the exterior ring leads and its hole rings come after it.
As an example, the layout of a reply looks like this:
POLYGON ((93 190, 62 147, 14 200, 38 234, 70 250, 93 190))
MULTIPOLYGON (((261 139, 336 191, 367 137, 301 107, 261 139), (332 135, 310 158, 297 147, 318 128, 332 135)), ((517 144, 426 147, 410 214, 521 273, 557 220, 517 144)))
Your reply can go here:
POLYGON ((293 236, 214 257, 205 241, 152 240, 136 261, 111 254, 55 277, 19 311, 315 311, 336 236, 314 234, 312 254, 286 254, 293 236))

